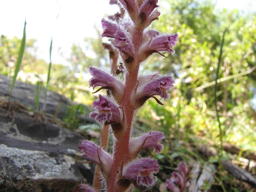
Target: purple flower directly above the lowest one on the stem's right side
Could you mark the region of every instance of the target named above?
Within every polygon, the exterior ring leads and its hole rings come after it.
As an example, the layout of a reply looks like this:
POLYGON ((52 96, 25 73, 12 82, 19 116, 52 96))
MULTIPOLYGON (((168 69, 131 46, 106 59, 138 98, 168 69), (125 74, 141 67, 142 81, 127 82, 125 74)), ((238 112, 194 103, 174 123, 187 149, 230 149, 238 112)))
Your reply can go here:
POLYGON ((142 149, 146 149, 148 147, 153 149, 155 153, 159 154, 164 149, 164 145, 160 143, 164 138, 164 133, 158 131, 152 131, 140 137, 135 137, 130 140, 129 154, 131 157, 135 158, 142 149))

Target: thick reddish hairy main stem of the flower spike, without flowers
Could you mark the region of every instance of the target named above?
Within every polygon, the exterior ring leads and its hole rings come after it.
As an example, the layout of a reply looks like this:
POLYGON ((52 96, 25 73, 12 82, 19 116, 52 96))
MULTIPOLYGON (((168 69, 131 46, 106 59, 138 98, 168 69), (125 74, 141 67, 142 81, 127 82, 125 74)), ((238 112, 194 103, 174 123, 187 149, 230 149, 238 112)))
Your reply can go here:
POLYGON ((124 165, 127 161, 129 161, 129 141, 130 141, 130 131, 131 131, 131 125, 134 117, 134 108, 131 105, 130 97, 132 94, 132 91, 137 85, 137 78, 138 78, 138 70, 139 70, 139 64, 140 61, 138 59, 138 47, 141 45, 142 40, 142 34, 143 30, 136 29, 133 34, 133 43, 135 45, 134 50, 134 64, 136 67, 133 71, 127 71, 126 74, 126 84, 125 84, 125 90, 124 90, 124 96, 122 98, 122 102, 120 106, 123 108, 124 111, 124 120, 125 120, 125 133, 116 138, 116 142, 114 145, 114 157, 113 157, 113 163, 111 165, 111 172, 110 176, 106 179, 106 189, 108 192, 119 192, 120 189, 118 189, 116 179, 118 176, 118 173, 121 170, 122 161, 125 157, 128 157, 124 161, 124 165))

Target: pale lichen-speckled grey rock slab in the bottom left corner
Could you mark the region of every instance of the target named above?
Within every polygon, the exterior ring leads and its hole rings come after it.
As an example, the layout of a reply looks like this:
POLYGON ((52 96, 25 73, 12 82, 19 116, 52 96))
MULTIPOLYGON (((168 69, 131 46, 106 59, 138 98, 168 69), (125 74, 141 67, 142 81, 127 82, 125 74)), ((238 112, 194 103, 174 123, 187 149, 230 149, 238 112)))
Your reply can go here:
POLYGON ((71 156, 1 146, 0 192, 71 192, 86 181, 71 156))

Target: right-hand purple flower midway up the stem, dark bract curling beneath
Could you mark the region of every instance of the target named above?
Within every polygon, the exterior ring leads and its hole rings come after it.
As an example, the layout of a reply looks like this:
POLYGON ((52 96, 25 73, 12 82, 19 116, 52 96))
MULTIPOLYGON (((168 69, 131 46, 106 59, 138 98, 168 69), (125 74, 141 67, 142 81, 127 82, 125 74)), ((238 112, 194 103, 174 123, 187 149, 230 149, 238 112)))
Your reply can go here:
POLYGON ((155 80, 148 82, 144 86, 140 86, 137 89, 134 101, 142 97, 152 97, 154 95, 159 95, 161 98, 170 98, 169 90, 173 88, 174 84, 173 78, 169 76, 164 76, 155 80))

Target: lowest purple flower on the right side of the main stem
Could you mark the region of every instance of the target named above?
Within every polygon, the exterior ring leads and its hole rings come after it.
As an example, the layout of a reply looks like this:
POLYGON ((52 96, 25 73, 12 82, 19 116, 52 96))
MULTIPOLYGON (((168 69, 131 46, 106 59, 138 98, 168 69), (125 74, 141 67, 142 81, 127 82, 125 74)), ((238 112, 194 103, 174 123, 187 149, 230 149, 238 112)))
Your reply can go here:
POLYGON ((134 161, 131 165, 123 168, 123 178, 131 181, 136 181, 137 185, 146 187, 152 186, 157 181, 154 173, 159 171, 159 165, 156 160, 150 158, 142 158, 134 161))

